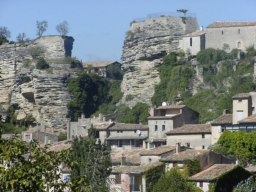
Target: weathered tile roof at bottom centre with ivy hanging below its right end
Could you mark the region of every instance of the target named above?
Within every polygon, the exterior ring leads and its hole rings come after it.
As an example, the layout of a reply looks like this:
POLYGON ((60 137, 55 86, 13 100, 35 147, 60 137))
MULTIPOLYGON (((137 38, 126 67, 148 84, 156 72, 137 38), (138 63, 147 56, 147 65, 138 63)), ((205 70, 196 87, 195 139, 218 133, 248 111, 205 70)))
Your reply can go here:
POLYGON ((150 169, 151 167, 161 165, 161 164, 164 166, 164 163, 162 162, 147 162, 139 166, 118 166, 113 168, 112 173, 124 173, 124 174, 129 174, 132 172, 143 173, 148 169, 150 169))

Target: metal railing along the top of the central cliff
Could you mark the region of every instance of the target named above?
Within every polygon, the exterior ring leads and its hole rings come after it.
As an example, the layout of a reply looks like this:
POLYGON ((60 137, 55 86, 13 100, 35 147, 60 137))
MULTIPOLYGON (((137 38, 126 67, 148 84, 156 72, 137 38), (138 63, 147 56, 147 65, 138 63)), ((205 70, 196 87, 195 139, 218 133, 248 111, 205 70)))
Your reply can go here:
POLYGON ((151 14, 147 14, 147 17, 134 18, 131 23, 143 22, 149 18, 157 18, 157 17, 193 17, 193 18, 196 18, 196 13, 186 13, 186 15, 181 12, 151 13, 151 14))

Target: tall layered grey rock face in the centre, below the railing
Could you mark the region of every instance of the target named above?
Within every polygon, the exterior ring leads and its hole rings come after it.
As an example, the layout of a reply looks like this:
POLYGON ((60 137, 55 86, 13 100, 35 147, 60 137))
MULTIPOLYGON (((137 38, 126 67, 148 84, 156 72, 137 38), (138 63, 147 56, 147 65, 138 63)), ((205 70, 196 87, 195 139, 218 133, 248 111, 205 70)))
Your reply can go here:
POLYGON ((182 35, 198 29, 196 18, 186 18, 186 24, 180 17, 149 18, 133 23, 129 30, 136 34, 124 40, 121 58, 125 71, 121 85, 124 96, 119 104, 132 107, 137 102, 144 102, 150 105, 154 86, 160 82, 157 68, 162 57, 171 51, 180 51, 182 35), (129 94, 133 99, 126 101, 129 94))

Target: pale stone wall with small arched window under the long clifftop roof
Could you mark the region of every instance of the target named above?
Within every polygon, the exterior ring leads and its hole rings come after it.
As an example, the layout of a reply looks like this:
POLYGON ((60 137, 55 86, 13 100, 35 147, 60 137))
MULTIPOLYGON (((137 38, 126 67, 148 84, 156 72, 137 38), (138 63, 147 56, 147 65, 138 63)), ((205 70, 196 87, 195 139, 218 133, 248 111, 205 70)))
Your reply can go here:
POLYGON ((226 43, 230 48, 227 52, 230 52, 232 49, 238 48, 238 42, 241 42, 241 50, 245 51, 246 47, 255 43, 255 31, 256 26, 207 28, 205 48, 221 49, 226 43), (240 33, 238 33, 239 29, 240 33))

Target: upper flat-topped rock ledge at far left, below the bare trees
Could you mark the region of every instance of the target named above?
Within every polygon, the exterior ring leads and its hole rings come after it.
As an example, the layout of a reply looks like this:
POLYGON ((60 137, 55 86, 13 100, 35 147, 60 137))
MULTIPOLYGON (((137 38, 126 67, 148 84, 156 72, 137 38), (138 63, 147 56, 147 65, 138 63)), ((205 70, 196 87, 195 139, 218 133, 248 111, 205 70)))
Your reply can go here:
POLYGON ((23 65, 25 60, 32 59, 28 55, 30 46, 44 47, 46 52, 45 59, 59 59, 65 56, 71 56, 73 48, 73 37, 59 35, 42 36, 35 40, 25 43, 4 44, 0 46, 0 68, 1 80, 0 83, 0 103, 8 103, 15 81, 17 71, 23 65))

